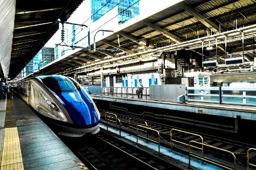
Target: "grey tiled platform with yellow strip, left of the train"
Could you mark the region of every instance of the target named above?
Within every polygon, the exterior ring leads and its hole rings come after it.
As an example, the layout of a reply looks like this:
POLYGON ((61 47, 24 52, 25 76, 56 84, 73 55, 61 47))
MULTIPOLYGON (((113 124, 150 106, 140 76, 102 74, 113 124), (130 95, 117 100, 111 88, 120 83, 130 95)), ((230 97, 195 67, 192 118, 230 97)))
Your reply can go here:
POLYGON ((0 169, 88 169, 16 96, 0 100, 0 169))

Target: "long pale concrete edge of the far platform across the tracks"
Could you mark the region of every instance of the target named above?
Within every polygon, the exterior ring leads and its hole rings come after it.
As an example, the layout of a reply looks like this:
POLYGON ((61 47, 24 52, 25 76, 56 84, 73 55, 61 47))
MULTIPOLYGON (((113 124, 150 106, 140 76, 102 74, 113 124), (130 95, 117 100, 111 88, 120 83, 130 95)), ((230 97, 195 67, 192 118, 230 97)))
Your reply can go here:
POLYGON ((200 102, 171 102, 156 101, 148 99, 132 99, 124 97, 90 95, 94 100, 106 100, 114 103, 134 104, 145 107, 154 107, 161 109, 170 109, 174 111, 210 114, 214 116, 234 117, 240 116, 245 120, 256 120, 256 107, 246 105, 200 103, 200 102))

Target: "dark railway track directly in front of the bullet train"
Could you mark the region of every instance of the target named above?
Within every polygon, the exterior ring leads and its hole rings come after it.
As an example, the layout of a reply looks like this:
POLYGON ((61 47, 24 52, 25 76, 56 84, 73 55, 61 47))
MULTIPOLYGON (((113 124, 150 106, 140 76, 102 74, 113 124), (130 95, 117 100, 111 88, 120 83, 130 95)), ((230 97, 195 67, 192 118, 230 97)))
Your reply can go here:
MULTIPOLYGON (((179 169, 136 143, 120 141, 104 130, 82 138, 60 138, 89 169, 179 169)), ((184 169, 187 165, 180 167, 184 169)))

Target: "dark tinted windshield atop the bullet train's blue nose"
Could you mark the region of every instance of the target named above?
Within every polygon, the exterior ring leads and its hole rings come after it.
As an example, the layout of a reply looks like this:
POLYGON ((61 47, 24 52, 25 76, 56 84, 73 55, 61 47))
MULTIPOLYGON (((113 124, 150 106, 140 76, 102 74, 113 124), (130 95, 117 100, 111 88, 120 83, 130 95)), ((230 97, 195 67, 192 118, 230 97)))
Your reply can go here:
POLYGON ((42 79, 42 82, 53 92, 73 92, 78 90, 78 86, 75 82, 64 77, 46 77, 42 79))

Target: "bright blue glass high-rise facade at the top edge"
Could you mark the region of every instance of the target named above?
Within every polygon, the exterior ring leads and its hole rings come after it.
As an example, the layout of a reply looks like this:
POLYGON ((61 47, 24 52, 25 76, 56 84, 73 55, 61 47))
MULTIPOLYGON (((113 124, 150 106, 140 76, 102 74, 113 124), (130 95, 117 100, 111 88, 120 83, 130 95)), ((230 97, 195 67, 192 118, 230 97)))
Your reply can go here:
POLYGON ((118 23, 122 24, 139 15, 139 0, 91 0, 91 18, 96 21, 118 6, 118 23))

